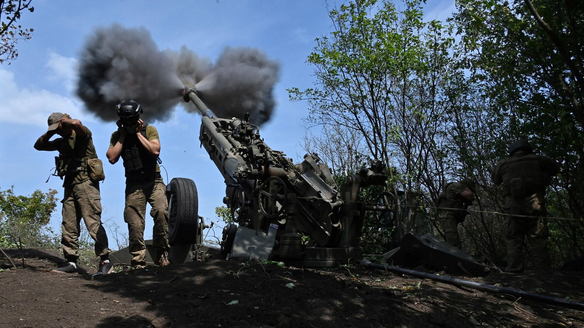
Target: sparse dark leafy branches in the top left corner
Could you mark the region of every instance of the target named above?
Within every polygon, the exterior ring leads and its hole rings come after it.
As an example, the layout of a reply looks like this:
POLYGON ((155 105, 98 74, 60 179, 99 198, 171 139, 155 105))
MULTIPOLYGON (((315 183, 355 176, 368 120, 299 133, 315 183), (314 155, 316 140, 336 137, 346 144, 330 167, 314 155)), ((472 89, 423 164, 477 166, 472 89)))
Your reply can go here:
POLYGON ((0 64, 8 62, 10 65, 18 57, 18 41, 27 41, 32 37, 34 29, 23 29, 22 25, 16 25, 23 12, 34 12, 31 2, 32 0, 0 0, 0 64))

